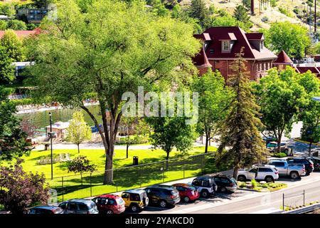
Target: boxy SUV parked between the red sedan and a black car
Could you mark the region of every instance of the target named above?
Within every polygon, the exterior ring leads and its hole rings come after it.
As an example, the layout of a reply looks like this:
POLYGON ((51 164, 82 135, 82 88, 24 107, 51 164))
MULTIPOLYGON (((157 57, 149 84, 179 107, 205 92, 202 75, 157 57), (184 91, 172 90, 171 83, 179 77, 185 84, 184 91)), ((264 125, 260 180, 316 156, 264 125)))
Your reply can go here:
POLYGON ((204 198, 214 195, 218 190, 214 177, 210 176, 196 177, 196 179, 193 180, 192 185, 198 189, 201 197, 204 198))

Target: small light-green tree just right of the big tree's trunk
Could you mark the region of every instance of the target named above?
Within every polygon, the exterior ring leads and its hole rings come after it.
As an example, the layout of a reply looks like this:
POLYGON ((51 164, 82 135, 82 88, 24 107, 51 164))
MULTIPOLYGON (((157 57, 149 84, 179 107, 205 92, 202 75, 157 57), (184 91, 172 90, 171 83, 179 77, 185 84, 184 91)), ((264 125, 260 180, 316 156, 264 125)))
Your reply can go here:
POLYGON ((129 146, 146 138, 146 135, 150 133, 150 128, 146 121, 134 117, 123 117, 122 128, 126 134, 124 142, 126 142, 126 157, 128 158, 129 146))

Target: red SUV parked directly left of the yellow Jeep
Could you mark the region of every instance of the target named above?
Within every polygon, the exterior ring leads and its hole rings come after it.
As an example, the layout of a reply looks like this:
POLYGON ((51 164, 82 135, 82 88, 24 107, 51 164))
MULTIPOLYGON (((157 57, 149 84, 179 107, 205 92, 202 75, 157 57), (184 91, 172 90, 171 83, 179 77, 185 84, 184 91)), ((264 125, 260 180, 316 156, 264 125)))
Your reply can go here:
POLYGON ((99 214, 120 214, 124 212, 124 200, 118 195, 100 195, 92 199, 99 214))

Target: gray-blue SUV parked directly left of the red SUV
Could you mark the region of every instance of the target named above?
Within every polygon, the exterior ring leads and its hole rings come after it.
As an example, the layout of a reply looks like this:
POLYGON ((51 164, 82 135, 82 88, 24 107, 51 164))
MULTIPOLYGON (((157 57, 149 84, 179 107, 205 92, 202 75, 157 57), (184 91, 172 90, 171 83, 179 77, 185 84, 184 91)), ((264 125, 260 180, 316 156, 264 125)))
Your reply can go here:
POLYGON ((58 205, 64 214, 99 214, 97 205, 90 199, 70 199, 58 205))

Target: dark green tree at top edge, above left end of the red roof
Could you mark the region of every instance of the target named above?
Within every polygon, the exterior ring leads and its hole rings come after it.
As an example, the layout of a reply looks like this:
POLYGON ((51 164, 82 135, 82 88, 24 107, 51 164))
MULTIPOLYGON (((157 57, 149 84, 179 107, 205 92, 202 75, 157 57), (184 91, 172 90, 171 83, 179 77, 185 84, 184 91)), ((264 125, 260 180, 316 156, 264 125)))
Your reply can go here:
POLYGON ((191 5, 188 9, 189 15, 193 19, 198 19, 199 24, 202 28, 206 28, 208 24, 208 7, 206 6, 205 1, 203 0, 192 0, 191 5))

